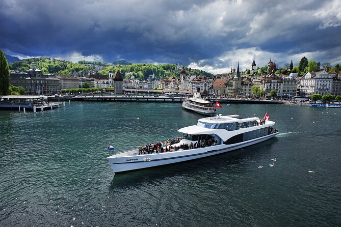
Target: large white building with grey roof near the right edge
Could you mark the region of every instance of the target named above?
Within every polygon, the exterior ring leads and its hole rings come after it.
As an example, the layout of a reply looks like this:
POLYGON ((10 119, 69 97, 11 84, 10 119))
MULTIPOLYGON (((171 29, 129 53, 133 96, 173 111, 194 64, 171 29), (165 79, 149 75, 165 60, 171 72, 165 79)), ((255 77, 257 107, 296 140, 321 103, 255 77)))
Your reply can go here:
POLYGON ((326 71, 307 72, 300 80, 300 95, 331 95, 333 77, 326 71))

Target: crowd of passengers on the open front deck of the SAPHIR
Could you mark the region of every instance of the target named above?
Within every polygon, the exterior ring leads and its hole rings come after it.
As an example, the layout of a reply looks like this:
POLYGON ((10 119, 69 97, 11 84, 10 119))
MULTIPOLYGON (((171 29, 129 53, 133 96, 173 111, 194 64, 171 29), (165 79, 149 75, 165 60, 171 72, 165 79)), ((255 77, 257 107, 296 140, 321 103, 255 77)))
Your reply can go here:
POLYGON ((165 153, 165 152, 172 152, 172 151, 182 151, 182 150, 189 150, 189 149, 195 149, 195 148, 204 148, 204 147, 210 147, 215 146, 218 144, 217 140, 208 139, 207 141, 205 139, 201 140, 201 143, 192 143, 190 145, 188 144, 180 144, 179 146, 176 146, 175 144, 178 144, 181 141, 181 137, 175 137, 173 139, 167 139, 166 141, 159 141, 156 144, 147 144, 146 146, 139 147, 139 155, 142 154, 158 154, 158 153, 165 153))

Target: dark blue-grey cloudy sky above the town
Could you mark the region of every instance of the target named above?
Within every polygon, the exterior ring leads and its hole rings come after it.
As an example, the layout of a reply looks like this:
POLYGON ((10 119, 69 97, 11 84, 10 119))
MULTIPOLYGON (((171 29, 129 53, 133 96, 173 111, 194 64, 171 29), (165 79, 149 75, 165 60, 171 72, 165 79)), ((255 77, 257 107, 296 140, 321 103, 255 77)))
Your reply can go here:
POLYGON ((2 0, 0 49, 20 59, 170 63, 226 73, 253 59, 341 64, 340 0, 2 0))

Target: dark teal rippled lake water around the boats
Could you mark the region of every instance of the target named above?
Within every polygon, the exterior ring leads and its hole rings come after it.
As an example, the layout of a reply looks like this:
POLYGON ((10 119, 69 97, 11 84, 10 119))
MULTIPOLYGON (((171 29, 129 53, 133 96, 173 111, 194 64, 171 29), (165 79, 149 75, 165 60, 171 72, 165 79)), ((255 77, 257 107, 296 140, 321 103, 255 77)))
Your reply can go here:
POLYGON ((109 144, 120 152, 181 136, 179 128, 203 116, 180 103, 0 111, 0 226, 341 225, 341 109, 223 104, 219 111, 268 112, 280 134, 222 155, 114 175, 109 144))

